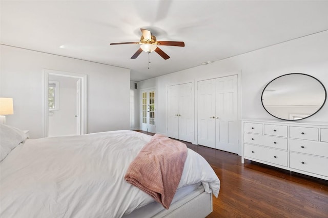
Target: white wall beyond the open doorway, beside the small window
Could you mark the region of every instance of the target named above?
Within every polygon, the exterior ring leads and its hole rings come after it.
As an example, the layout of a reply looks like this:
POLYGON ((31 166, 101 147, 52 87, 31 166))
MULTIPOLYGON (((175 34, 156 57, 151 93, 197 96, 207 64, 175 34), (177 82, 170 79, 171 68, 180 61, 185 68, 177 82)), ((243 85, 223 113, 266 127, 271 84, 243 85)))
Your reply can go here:
POLYGON ((59 108, 49 111, 48 136, 76 135, 76 82, 78 79, 49 75, 48 80, 59 82, 56 87, 59 89, 59 108))

